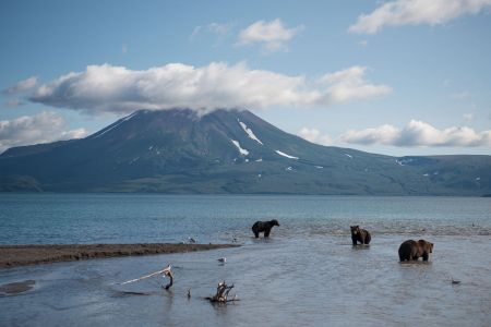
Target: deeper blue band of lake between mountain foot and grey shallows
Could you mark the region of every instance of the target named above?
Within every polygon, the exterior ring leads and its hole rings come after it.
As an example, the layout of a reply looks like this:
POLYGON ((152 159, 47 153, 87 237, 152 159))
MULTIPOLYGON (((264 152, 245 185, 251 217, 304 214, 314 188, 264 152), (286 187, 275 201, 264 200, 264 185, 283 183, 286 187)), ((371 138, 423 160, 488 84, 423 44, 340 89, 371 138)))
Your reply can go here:
POLYGON ((1 194, 0 244, 230 242, 255 220, 285 237, 491 234, 491 199, 475 197, 1 194), (474 227, 472 227, 474 223, 474 227))

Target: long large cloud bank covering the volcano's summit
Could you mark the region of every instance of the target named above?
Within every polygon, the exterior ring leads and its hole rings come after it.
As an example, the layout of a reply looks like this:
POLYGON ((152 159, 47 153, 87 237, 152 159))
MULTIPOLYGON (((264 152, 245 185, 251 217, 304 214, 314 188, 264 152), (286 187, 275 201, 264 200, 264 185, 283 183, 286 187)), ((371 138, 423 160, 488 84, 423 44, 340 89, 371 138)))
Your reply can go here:
POLYGON ((103 64, 44 84, 29 100, 93 113, 171 108, 208 112, 219 108, 330 106, 391 92, 386 85, 371 84, 364 74, 366 68, 354 66, 308 81, 251 70, 244 63, 213 62, 202 68, 170 63, 143 71, 103 64))

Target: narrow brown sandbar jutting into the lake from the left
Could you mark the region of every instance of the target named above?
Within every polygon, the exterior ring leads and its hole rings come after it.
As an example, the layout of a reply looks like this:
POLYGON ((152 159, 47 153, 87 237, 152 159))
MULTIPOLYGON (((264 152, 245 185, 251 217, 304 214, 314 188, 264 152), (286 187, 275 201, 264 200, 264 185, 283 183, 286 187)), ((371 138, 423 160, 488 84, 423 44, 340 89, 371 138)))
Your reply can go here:
POLYGON ((72 262, 125 255, 192 252, 239 246, 237 244, 63 244, 0 245, 0 267, 72 262))

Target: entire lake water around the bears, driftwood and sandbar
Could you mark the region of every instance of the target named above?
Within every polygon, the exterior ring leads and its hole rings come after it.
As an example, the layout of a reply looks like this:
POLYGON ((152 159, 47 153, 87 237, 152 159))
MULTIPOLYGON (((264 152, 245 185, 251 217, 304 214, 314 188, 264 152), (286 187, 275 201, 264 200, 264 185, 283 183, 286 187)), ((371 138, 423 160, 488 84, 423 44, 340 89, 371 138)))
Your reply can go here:
POLYGON ((36 280, 31 291, 0 295, 0 325, 491 325, 491 198, 0 195, 1 244, 190 237, 243 246, 0 269, 0 283, 36 280), (280 227, 253 239, 252 223, 270 219, 280 227), (372 233, 370 246, 351 246, 350 225, 372 233), (435 244, 429 263, 398 263, 407 239, 435 244), (169 292, 161 278, 115 284, 167 264, 169 292), (240 301, 203 300, 224 279, 240 301))

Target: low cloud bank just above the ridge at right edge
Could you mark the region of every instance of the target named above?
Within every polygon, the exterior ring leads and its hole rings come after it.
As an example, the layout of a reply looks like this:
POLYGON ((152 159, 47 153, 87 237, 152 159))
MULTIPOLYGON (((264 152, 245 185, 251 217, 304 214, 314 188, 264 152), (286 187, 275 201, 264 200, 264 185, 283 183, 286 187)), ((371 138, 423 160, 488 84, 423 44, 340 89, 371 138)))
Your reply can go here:
POLYGON ((362 145, 491 146, 491 130, 480 133, 468 126, 439 130, 426 122, 411 120, 403 129, 385 124, 362 131, 348 131, 339 140, 362 145))

